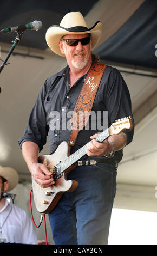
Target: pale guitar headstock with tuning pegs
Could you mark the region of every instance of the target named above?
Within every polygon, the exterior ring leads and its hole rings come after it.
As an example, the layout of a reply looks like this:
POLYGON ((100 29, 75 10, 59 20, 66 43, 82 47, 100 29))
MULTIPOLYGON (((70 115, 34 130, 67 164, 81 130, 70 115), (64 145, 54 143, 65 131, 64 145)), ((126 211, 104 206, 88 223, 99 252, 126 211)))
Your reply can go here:
POLYGON ((132 129, 132 118, 131 117, 125 117, 118 120, 115 120, 115 123, 113 123, 110 126, 110 135, 113 134, 119 134, 125 129, 132 129))

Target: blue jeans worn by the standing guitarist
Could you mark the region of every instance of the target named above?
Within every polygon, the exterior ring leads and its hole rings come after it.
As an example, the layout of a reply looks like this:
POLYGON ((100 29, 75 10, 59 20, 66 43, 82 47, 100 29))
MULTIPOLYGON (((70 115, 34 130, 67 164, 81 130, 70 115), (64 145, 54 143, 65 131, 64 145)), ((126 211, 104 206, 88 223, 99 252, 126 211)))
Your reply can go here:
POLYGON ((49 213, 55 245, 107 245, 116 193, 116 169, 110 164, 78 166, 68 174, 78 181, 49 213))

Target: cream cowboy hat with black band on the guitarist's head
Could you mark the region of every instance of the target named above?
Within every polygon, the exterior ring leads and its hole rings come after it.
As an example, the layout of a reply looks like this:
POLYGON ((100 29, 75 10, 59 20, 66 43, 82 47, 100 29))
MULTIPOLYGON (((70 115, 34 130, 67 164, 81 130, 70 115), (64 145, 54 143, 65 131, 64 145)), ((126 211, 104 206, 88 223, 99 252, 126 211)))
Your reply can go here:
POLYGON ((80 12, 71 12, 66 14, 60 26, 53 25, 48 28, 45 38, 50 49, 56 54, 65 57, 58 45, 58 40, 62 38, 63 35, 67 34, 87 34, 91 35, 91 50, 97 45, 102 34, 102 23, 97 21, 95 25, 91 28, 87 27, 86 21, 84 20, 80 12))

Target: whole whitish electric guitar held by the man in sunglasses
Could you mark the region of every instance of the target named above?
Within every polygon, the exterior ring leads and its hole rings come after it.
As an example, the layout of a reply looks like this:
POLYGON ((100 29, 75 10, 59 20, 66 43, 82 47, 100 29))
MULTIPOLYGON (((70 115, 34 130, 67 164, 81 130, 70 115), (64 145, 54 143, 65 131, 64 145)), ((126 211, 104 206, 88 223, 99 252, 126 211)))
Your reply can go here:
MULTIPOLYGON (((101 143, 110 135, 119 134, 125 129, 131 129, 132 126, 131 117, 118 119, 108 129, 100 133, 95 140, 101 143)), ((70 155, 68 143, 64 141, 58 146, 53 155, 38 157, 38 162, 47 167, 55 180, 53 186, 43 188, 32 177, 32 190, 38 212, 48 213, 52 211, 63 193, 73 192, 77 188, 78 182, 76 180, 67 180, 67 176, 76 167, 76 161, 86 154, 86 148, 87 144, 70 155)))

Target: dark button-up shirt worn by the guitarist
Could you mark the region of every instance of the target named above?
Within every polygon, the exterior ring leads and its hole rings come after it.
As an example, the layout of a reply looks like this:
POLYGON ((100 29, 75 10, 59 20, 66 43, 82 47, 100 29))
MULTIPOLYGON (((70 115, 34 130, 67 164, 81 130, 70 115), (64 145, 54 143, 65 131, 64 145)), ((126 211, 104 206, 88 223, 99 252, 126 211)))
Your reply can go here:
MULTIPOLYGON (((37 100, 30 113, 24 135, 19 139, 19 147, 24 141, 38 144, 40 151, 49 137, 49 154, 54 153, 62 141, 68 141, 70 116, 76 105, 86 75, 82 76, 70 88, 69 66, 49 77, 38 94, 37 100), (67 129, 68 127, 68 129, 67 129)), ((95 101, 89 118, 89 129, 78 133, 75 146, 71 153, 80 149, 90 141, 90 136, 107 129, 116 119, 132 116, 131 100, 128 88, 120 72, 107 66, 97 90, 95 101), (94 116, 94 112, 96 115, 94 116), (97 114, 99 113, 99 114, 97 114), (92 123, 93 122, 93 123, 92 123), (99 127, 97 127, 99 126, 99 127)), ((133 120, 133 117, 132 117, 133 120)), ((133 139, 133 128, 126 129, 127 144, 133 139)), ((116 151, 114 160, 120 162, 122 150, 116 151)))

